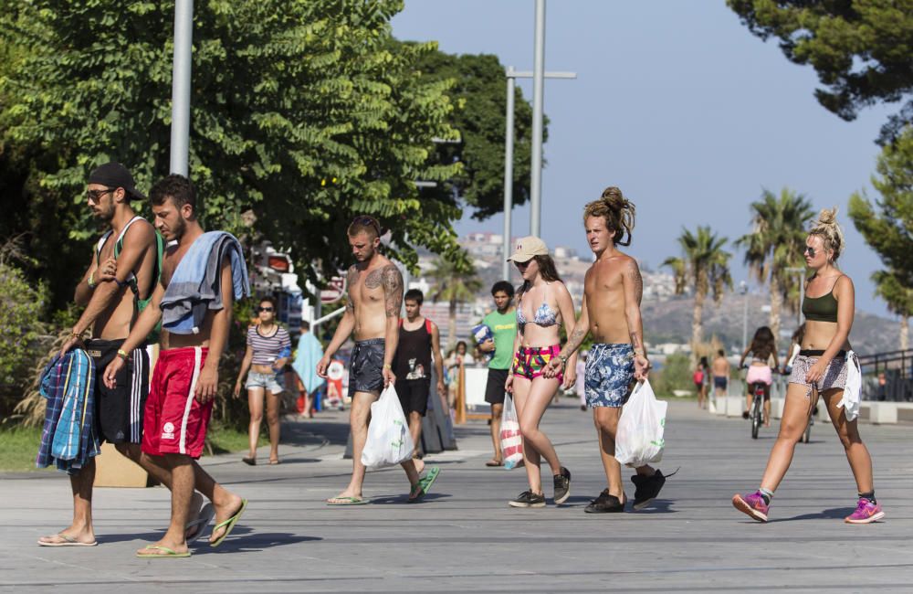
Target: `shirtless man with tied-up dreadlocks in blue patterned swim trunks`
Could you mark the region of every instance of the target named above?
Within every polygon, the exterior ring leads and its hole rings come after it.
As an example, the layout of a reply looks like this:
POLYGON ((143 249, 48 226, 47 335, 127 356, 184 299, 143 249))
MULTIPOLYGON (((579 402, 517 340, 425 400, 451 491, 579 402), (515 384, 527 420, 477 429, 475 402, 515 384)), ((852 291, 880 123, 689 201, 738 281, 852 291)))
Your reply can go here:
MULTIPOLYGON (((617 249, 631 244, 634 219, 634 204, 614 186, 606 188, 600 199, 584 208, 586 239, 596 261, 586 271, 583 282, 580 320, 561 355, 551 360, 548 369, 549 374, 557 376, 561 360, 572 355, 586 334, 593 334, 594 344, 586 360, 584 392, 587 406, 593 408, 608 488, 587 505, 584 511, 588 514, 624 512, 622 469, 614 457, 615 430, 635 380, 643 381, 650 369, 640 317, 644 281, 637 262, 617 249)), ((641 466, 636 471, 631 477, 635 483, 635 510, 656 499, 666 483, 663 473, 651 466, 641 466)))

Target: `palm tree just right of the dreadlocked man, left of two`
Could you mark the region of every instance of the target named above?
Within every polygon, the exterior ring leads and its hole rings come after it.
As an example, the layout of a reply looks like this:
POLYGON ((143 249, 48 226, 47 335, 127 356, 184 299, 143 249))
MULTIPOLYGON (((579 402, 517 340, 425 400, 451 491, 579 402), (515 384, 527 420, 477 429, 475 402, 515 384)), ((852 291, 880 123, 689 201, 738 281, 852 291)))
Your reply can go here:
POLYGON ((728 251, 723 249, 729 239, 720 238, 709 227, 698 227, 698 233, 683 228, 678 238, 682 247, 681 258, 667 258, 663 266, 672 269, 676 277, 676 294, 694 291, 694 315, 691 320, 691 349, 697 354, 703 339, 702 319, 704 301, 713 292, 713 301, 719 303, 726 287, 732 288, 729 275, 728 251))

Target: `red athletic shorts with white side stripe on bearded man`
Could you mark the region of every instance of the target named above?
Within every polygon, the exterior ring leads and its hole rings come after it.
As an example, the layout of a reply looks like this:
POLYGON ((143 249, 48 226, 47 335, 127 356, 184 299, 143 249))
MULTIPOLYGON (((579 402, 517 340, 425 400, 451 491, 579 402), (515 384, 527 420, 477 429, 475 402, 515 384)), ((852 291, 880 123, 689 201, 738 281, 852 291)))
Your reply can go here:
POLYGON ((152 456, 203 453, 213 400, 194 398, 209 349, 201 346, 162 351, 152 372, 142 424, 142 451, 152 456))

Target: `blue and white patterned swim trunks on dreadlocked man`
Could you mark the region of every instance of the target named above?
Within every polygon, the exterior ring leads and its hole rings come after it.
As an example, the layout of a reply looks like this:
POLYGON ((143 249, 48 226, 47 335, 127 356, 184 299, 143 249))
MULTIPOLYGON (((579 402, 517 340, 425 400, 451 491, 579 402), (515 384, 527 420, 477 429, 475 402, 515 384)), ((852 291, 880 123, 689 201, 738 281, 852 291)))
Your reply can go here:
POLYGON ((583 375, 586 406, 623 406, 634 383, 634 348, 620 344, 593 345, 583 375))

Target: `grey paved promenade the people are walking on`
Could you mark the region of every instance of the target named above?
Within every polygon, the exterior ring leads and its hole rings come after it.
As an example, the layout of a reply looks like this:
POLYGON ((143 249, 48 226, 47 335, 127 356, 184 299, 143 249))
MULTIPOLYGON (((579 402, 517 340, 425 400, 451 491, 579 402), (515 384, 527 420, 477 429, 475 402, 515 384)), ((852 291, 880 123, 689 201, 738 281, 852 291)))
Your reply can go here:
MULTIPOLYGON (((829 425, 815 425, 761 525, 729 504, 757 488, 775 429, 751 440, 747 421, 669 408, 666 459, 681 471, 645 511, 583 514, 603 489, 593 423, 572 400, 544 430, 573 473, 559 508, 517 510, 521 469, 488 469, 488 427, 457 429, 459 451, 431 456, 442 472, 422 504, 405 504, 399 469, 371 472, 373 504, 328 507, 348 481, 341 413, 285 426, 278 466, 240 455, 207 469, 250 505, 218 549, 189 559, 133 557, 167 523, 163 488, 98 489, 97 547, 42 548, 68 525, 69 487, 57 472, 0 474, 0 591, 99 592, 910 592, 913 590, 913 427, 862 425, 887 513, 845 525, 855 484, 829 425)), ((265 458, 265 454, 264 454, 265 458)), ((629 472, 625 472, 626 476, 629 472)), ((551 496, 551 481, 546 495, 551 496)), ((634 489, 627 483, 627 493, 634 489)))

